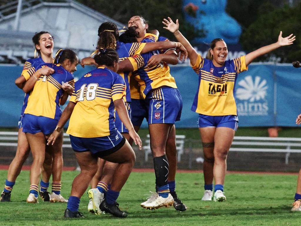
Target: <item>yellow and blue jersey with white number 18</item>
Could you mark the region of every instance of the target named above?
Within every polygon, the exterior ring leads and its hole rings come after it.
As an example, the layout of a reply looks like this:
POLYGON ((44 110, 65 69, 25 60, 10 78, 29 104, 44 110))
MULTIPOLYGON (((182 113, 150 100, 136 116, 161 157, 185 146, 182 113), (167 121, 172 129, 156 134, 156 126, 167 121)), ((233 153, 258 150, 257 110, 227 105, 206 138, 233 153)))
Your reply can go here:
POLYGON ((76 103, 67 133, 74 137, 104 137, 115 129, 113 101, 125 96, 123 78, 98 67, 75 83, 70 101, 76 103))

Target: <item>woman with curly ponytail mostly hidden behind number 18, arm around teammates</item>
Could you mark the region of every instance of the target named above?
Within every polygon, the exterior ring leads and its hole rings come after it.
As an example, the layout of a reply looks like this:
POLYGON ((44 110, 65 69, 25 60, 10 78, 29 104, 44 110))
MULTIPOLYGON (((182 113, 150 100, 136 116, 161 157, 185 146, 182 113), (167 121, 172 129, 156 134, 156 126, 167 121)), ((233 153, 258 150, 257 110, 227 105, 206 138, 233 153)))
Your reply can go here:
MULTIPOLYGON (((178 47, 182 52, 185 52, 185 49, 182 48, 182 46, 178 45, 178 43, 174 42, 154 42, 157 40, 157 36, 153 34, 147 34, 145 39, 153 40, 153 43, 122 43, 118 42, 118 29, 115 24, 110 22, 105 22, 101 24, 101 26, 98 29, 98 48, 116 48, 116 51, 119 54, 119 62, 125 60, 127 57, 144 53, 156 49, 169 49, 169 48, 176 48, 178 47)), ((84 58, 81 61, 81 65, 90 65, 95 64, 95 61, 93 58, 84 58)), ((124 97, 124 101, 126 102, 126 106, 128 109, 129 116, 131 115, 131 108, 130 108, 130 91, 129 91, 129 72, 123 72, 120 73, 120 75, 124 78, 126 83, 126 96, 124 97)), ((122 132, 123 136, 126 137, 126 139, 129 139, 129 134, 127 132, 127 128, 123 125, 122 121, 119 119, 119 115, 117 112, 115 112, 115 125, 116 128, 122 132)), ((112 174, 110 173, 114 168, 116 167, 116 164, 107 162, 104 167, 102 168, 103 162, 100 161, 99 164, 99 171, 95 174, 95 177, 92 179, 91 187, 92 189, 89 190, 89 197, 90 197, 90 204, 88 205, 88 210, 90 212, 99 212, 99 209, 95 208, 99 206, 100 199, 96 199, 95 195, 93 193, 97 193, 100 196, 103 196, 104 193, 108 190, 110 180, 112 177, 112 174), (96 186, 97 185, 97 186, 96 186), (95 188, 97 187, 97 188, 95 188), (93 202, 93 206, 92 206, 93 202)))

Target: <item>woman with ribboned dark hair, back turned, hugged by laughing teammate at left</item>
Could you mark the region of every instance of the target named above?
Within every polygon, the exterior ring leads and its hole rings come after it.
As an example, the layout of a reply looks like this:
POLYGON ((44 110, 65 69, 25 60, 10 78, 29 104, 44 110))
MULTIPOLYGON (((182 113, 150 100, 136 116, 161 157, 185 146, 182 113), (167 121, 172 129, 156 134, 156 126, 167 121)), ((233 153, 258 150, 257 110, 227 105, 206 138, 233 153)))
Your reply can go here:
MULTIPOLYGON (((58 119, 61 117, 60 100, 64 95, 62 84, 69 87, 68 93, 73 91, 73 72, 76 71, 78 58, 72 50, 60 50, 54 60, 55 64, 42 63, 39 68, 50 68, 51 74, 48 76, 37 73, 25 83, 23 90, 29 94, 27 106, 24 111, 23 132, 26 133, 30 149, 33 154, 33 163, 30 168, 30 188, 27 202, 38 202, 38 181, 41 174, 41 168, 45 160, 46 140, 54 131, 58 119)), ((39 70, 38 70, 39 71, 39 70)), ((61 161, 54 161, 57 168, 62 169, 62 137, 51 149, 54 159, 60 158, 61 161), (60 164, 60 165, 59 165, 60 164)), ((54 166, 55 167, 55 166, 54 166)), ((61 172, 60 172, 61 173, 61 172)), ((50 195, 55 200, 67 202, 60 195, 61 181, 53 181, 53 193, 50 195)), ((53 201, 55 201, 53 200, 53 201)))

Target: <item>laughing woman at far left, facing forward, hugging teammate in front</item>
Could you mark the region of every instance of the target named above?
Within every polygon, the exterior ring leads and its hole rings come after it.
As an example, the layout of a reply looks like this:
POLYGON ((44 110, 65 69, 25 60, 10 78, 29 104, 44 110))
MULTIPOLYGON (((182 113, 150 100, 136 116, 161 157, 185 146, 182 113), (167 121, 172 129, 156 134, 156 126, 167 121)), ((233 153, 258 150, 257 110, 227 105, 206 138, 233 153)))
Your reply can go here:
MULTIPOLYGON (((27 80, 35 73, 48 75, 51 73, 51 68, 40 68, 38 69, 38 65, 42 63, 52 63, 53 57, 53 47, 54 42, 50 33, 47 31, 41 31, 39 33, 35 33, 32 38, 33 44, 35 45, 36 52, 38 53, 38 57, 34 59, 28 59, 23 67, 23 71, 20 77, 18 77, 15 81, 16 85, 23 89, 23 86, 27 80)), ((17 144, 17 152, 16 155, 11 162, 8 175, 5 182, 5 188, 1 194, 1 202, 10 202, 11 190, 15 184, 15 180, 17 176, 20 174, 21 168, 29 155, 29 144, 26 139, 26 135, 23 132, 23 120, 24 120, 24 110, 27 106, 29 93, 25 94, 24 103, 21 110, 21 116, 18 123, 19 132, 18 132, 18 144, 17 144)), ((63 103, 62 103, 63 104, 63 103)), ((52 156, 47 154, 47 159, 43 164, 42 171, 42 180, 41 180, 41 188, 40 195, 44 201, 49 201, 49 193, 47 192, 47 188, 49 186, 49 179, 51 176, 51 171, 53 171, 53 180, 61 180, 61 169, 52 167, 52 156)))

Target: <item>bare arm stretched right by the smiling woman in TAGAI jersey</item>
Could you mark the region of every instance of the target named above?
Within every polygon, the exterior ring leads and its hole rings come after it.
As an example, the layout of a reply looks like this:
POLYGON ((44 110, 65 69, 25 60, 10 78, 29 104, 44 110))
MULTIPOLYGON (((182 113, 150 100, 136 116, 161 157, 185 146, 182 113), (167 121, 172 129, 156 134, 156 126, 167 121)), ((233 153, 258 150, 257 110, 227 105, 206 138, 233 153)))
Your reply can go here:
POLYGON ((268 45, 268 46, 263 46, 253 52, 248 53, 245 56, 245 60, 246 60, 246 66, 248 66, 256 57, 259 57, 261 55, 264 55, 268 52, 271 52, 275 49, 278 49, 281 46, 289 46, 291 44, 293 44, 293 41, 296 40, 296 36, 293 36, 293 34, 283 38, 282 37, 282 31, 280 32, 279 36, 278 36, 278 41, 268 45))

